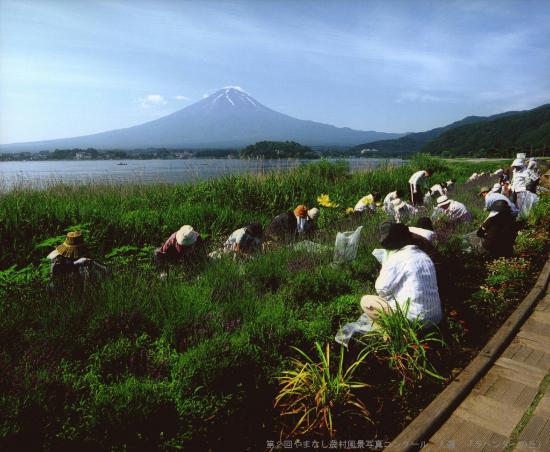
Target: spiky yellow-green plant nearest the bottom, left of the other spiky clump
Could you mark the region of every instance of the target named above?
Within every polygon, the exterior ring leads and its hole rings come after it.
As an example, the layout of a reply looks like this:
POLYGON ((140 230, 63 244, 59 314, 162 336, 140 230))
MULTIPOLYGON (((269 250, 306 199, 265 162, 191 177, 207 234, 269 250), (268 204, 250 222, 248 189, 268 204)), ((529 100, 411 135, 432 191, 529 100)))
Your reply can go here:
POLYGON ((290 434, 305 434, 314 430, 327 431, 332 438, 336 431, 337 416, 357 415, 370 421, 365 404, 354 394, 354 389, 368 385, 353 380, 353 375, 366 355, 363 355, 344 370, 344 347, 336 369, 331 368, 330 346, 323 351, 316 342, 319 362, 302 350, 292 347, 300 356, 292 358, 292 369, 277 377, 282 386, 275 398, 275 407, 280 407, 281 416, 297 416, 298 420, 290 434))

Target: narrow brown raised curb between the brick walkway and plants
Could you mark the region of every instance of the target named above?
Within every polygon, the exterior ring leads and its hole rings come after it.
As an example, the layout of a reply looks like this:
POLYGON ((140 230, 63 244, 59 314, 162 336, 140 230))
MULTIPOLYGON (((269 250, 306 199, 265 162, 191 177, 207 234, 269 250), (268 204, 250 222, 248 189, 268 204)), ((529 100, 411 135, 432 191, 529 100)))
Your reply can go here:
POLYGON ((450 417, 453 411, 470 393, 476 383, 514 339, 527 320, 539 298, 544 295, 550 279, 550 259, 547 259, 537 282, 510 314, 495 335, 478 355, 405 429, 386 447, 385 451, 417 451, 427 444, 430 437, 450 417))

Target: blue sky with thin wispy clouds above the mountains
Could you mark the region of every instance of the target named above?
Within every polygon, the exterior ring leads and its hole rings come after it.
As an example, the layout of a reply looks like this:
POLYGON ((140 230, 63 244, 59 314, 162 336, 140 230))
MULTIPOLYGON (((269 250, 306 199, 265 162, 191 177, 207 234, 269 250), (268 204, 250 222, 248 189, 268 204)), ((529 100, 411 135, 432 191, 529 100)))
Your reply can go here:
POLYGON ((550 1, 0 0, 0 143, 140 124, 228 85, 421 131, 550 102, 550 1))

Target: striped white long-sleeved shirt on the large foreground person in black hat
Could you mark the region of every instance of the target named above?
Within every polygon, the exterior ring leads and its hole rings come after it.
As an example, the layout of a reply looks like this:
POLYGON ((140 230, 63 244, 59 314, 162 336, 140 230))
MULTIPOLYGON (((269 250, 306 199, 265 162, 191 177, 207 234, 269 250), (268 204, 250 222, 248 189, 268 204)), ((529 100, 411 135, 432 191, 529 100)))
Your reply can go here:
POLYGON ((391 253, 382 264, 376 292, 395 309, 410 300, 407 318, 439 323, 442 317, 435 266, 426 253, 407 245, 391 253))

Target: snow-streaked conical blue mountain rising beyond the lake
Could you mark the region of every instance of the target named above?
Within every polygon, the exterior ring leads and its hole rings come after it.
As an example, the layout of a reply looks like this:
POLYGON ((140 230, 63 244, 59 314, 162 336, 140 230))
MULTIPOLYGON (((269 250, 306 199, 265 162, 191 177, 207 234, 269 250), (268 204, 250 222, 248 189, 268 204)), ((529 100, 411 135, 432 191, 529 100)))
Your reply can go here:
POLYGON ((71 148, 235 148, 257 141, 292 140, 310 146, 353 146, 403 134, 353 130, 279 113, 239 88, 223 88, 182 110, 125 129, 29 143, 1 145, 6 151, 71 148))

